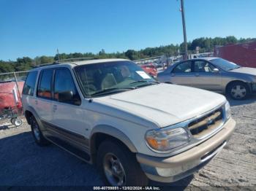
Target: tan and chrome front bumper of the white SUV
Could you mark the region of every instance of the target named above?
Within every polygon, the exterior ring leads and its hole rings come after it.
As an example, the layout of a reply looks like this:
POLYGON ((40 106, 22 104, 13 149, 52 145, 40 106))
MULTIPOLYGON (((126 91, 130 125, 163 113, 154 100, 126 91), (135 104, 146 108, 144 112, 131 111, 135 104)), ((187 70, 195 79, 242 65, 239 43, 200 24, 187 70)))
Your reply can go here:
POLYGON ((227 144, 235 126, 236 122, 230 119, 223 125, 222 130, 210 139, 173 157, 151 157, 138 153, 138 163, 148 179, 176 182, 195 173, 216 156, 227 144))

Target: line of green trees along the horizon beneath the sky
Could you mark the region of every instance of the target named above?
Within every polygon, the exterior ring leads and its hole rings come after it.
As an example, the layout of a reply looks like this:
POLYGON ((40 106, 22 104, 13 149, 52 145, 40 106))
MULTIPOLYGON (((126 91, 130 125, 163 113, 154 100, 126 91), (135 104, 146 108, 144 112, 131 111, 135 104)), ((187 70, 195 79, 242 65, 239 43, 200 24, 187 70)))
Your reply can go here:
MULTIPOLYGON (((226 44, 236 44, 243 42, 251 42, 256 39, 251 38, 241 38, 236 39, 235 36, 227 36, 225 38, 215 37, 215 38, 197 38, 192 42, 187 43, 188 52, 195 53, 196 47, 200 47, 200 52, 212 52, 215 46, 222 46, 226 44)), ((91 52, 87 53, 61 53, 55 56, 37 56, 36 58, 17 58, 16 61, 1 61, 0 60, 0 73, 11 72, 11 71, 27 71, 34 66, 42 63, 53 63, 60 59, 69 58, 127 58, 129 60, 139 60, 143 58, 150 58, 153 56, 166 55, 175 56, 183 55, 184 53, 184 43, 181 44, 170 44, 160 47, 147 47, 142 50, 127 50, 126 52, 113 52, 106 53, 104 49, 100 50, 98 53, 94 54, 91 52)))

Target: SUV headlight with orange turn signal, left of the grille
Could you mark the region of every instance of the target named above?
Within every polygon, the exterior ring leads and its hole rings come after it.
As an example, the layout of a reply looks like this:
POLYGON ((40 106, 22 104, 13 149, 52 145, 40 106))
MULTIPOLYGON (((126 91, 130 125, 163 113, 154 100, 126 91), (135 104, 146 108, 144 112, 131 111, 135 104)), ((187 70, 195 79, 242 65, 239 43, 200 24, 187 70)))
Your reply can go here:
POLYGON ((146 142, 151 149, 165 152, 189 142, 189 135, 184 128, 150 130, 146 133, 146 142))

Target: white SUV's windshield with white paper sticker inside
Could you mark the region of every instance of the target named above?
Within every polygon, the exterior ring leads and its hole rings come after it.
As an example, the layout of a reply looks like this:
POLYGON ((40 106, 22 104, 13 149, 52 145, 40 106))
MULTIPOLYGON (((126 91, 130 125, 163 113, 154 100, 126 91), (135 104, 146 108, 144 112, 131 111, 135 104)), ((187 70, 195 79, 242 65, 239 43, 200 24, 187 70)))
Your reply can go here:
POLYGON ((118 93, 157 83, 140 66, 131 61, 76 66, 75 73, 86 97, 118 93))

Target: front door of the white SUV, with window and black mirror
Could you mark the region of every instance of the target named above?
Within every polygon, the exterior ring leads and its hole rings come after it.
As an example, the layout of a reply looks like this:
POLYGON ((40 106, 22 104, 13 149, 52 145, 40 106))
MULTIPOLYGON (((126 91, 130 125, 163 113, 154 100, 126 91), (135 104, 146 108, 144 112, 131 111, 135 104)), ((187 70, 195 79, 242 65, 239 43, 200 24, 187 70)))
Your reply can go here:
POLYGON ((53 125, 68 131, 74 139, 83 139, 86 114, 80 106, 81 98, 69 69, 56 69, 53 94, 53 125))

